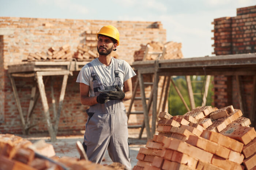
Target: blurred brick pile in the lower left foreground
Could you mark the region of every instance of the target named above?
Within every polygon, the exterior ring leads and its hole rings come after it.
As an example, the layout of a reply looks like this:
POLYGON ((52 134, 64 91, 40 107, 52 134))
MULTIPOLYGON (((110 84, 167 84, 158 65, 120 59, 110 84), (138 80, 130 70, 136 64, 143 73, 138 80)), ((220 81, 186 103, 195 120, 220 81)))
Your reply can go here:
MULTIPOLYGON (((115 166, 122 167, 120 165, 108 165, 103 166, 95 164, 91 161, 79 160, 78 158, 62 157, 59 158, 55 155, 53 147, 49 147, 50 144, 42 143, 39 141, 36 145, 30 141, 12 134, 0 134, 0 169, 4 170, 62 170, 60 165, 64 165, 70 170, 77 169, 101 169, 112 170, 115 166), (44 145, 44 149, 42 146, 44 145), (36 153, 48 157, 50 160, 57 163, 53 163, 49 160, 39 158, 36 153), (54 154, 49 154, 54 153, 54 154)), ((52 146, 52 145, 50 145, 52 146)))

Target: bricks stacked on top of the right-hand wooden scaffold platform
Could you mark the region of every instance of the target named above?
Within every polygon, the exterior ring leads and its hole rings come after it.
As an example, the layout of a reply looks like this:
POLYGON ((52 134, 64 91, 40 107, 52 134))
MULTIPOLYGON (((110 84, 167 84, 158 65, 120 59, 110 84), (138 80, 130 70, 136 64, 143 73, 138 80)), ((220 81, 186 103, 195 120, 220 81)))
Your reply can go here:
POLYGON ((176 43, 173 41, 169 41, 165 44, 151 41, 150 43, 147 43, 146 46, 140 45, 140 50, 134 52, 134 61, 140 61, 143 59, 144 54, 146 52, 146 47, 149 45, 148 52, 149 54, 146 56, 146 60, 156 60, 158 58, 157 53, 162 53, 163 48, 165 47, 165 54, 163 56, 164 60, 168 59, 179 59, 183 58, 182 52, 181 52, 181 43, 176 43), (152 52, 156 52, 155 54, 150 54, 152 52))

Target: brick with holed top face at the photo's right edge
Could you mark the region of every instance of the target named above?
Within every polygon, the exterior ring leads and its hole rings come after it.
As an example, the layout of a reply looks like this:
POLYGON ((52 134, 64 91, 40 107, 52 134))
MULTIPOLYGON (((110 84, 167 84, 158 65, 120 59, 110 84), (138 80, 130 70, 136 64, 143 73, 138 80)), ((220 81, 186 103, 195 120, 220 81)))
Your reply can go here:
POLYGON ((230 138, 236 139, 245 145, 251 142, 256 137, 254 127, 243 126, 227 126, 221 134, 230 138))

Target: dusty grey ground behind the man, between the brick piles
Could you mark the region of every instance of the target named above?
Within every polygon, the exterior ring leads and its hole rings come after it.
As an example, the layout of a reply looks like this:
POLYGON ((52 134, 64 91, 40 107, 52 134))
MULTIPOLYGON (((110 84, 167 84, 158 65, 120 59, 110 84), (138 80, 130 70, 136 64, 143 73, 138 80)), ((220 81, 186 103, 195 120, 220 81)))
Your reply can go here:
MULTIPOLYGON (((130 157, 131 157, 131 164, 132 167, 137 163, 137 155, 139 152, 140 147, 145 147, 147 143, 147 135, 146 129, 143 131, 142 139, 138 139, 140 129, 129 129, 128 130, 128 138, 130 142, 130 157)), ((71 133, 67 134, 60 134, 57 135, 57 141, 51 142, 50 137, 47 134, 33 134, 33 135, 19 135, 25 139, 30 140, 32 143, 36 142, 37 140, 44 139, 46 143, 50 143, 54 147, 54 151, 57 156, 59 157, 76 157, 80 158, 80 154, 76 149, 76 141, 83 142, 83 133, 84 131, 74 132, 75 135, 70 135, 71 133)), ((102 164, 111 164, 113 161, 110 159, 108 155, 108 151, 105 154, 105 161, 102 164)))

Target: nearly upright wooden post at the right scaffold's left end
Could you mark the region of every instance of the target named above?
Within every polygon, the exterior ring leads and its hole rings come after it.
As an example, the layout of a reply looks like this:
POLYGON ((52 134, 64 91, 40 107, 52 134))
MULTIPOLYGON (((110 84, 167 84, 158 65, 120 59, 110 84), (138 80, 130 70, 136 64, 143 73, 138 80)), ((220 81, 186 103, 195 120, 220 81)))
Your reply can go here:
POLYGON ((155 134, 155 126, 157 123, 157 95, 158 95, 158 82, 159 82, 158 68, 159 68, 159 61, 155 60, 151 139, 153 138, 153 135, 155 134))

